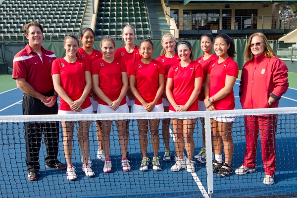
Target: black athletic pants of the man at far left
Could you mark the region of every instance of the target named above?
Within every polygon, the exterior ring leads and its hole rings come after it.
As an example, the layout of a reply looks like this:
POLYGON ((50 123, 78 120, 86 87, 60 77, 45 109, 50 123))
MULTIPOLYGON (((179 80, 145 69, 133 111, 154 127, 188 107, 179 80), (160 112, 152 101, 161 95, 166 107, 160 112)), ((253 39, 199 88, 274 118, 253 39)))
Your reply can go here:
MULTIPOLYGON (((52 96, 53 90, 43 94, 44 96, 52 96)), ((23 95, 23 115, 47 115, 57 114, 57 102, 52 107, 46 106, 39 99, 23 95)), ((50 164, 59 163, 57 159, 59 145, 59 122, 25 122, 26 137, 26 164, 27 170, 39 171, 39 150, 41 146, 42 134, 44 134, 44 142, 46 145, 47 156, 45 162, 50 164)))

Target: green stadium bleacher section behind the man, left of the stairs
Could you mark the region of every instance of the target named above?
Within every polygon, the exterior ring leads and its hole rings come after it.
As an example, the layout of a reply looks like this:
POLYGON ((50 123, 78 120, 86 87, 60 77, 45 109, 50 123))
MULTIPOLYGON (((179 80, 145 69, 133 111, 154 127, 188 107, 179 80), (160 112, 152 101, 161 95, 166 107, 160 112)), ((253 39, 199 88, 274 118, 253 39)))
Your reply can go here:
POLYGON ((77 35, 86 4, 87 0, 4 0, 0 4, 0 40, 24 42, 23 25, 31 21, 44 26, 46 41, 61 41, 70 33, 77 35))

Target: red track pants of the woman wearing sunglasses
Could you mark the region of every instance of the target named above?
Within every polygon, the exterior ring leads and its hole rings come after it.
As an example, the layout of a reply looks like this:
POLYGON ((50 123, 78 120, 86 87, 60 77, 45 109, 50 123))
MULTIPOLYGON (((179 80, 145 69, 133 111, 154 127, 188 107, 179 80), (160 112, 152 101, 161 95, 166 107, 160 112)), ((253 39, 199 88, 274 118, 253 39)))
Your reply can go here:
POLYGON ((265 174, 273 177, 276 169, 277 116, 245 116, 245 126, 247 144, 243 165, 247 168, 255 167, 257 140, 260 133, 265 174))

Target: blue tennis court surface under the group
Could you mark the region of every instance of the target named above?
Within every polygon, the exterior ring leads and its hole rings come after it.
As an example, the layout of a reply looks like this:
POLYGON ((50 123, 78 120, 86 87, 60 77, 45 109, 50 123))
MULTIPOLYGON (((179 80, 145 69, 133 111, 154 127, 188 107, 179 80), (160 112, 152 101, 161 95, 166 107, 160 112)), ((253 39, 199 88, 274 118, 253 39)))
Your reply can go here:
MULTIPOLYGON (((234 86, 236 109, 241 109, 238 97, 239 80, 234 86)), ((0 115, 22 114, 22 91, 14 89, 0 93, 0 115)), ((288 89, 280 100, 280 107, 297 106, 297 90, 288 89)), ((243 117, 237 117, 233 126, 234 170, 243 163, 245 154, 245 128, 243 117)), ((27 180, 25 163, 25 138, 23 124, 0 123, 0 195, 1 197, 102 197, 102 198, 285 198, 297 197, 297 116, 281 115, 277 131, 277 169, 275 184, 263 184, 264 169, 261 157, 260 141, 258 141, 256 172, 247 175, 231 174, 227 178, 219 178, 213 174, 213 194, 207 194, 207 174, 205 164, 196 163, 196 172, 188 173, 185 169, 172 172, 175 163, 174 152, 171 161, 160 159, 162 170, 152 171, 151 165, 147 172, 139 171, 141 154, 139 146, 138 127, 135 120, 130 122, 129 159, 132 170, 122 171, 121 154, 116 130, 110 135, 110 152, 113 171, 103 173, 104 162, 97 157, 96 126, 90 128, 90 156, 96 177, 88 178, 81 172, 81 150, 77 135, 74 133, 74 153, 72 161, 76 166, 78 180, 68 181, 66 170, 46 169, 44 166, 45 146, 40 151, 40 179, 27 180), (19 129, 18 129, 19 128, 19 129)), ((194 133, 195 153, 202 147, 202 125, 197 122, 194 133)), ((113 127, 115 129, 115 127, 113 127)), ((161 134, 161 130, 160 130, 161 134)), ((160 135, 159 155, 164 155, 164 144, 160 135)), ((150 139, 150 138, 149 138, 150 139)), ((59 143, 59 159, 65 163, 62 147, 62 134, 59 143)), ((170 140, 171 151, 174 150, 173 140, 170 140)), ((151 143, 148 143, 148 156, 153 156, 151 143)))

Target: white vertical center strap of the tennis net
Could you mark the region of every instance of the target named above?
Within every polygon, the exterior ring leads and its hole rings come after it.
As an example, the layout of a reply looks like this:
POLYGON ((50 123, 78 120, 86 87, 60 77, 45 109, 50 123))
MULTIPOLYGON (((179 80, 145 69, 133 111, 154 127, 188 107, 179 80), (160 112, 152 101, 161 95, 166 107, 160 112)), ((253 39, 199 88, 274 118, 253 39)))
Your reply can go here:
POLYGON ((213 193, 213 174, 212 174, 212 142, 211 142, 211 125, 210 125, 210 113, 204 111, 205 122, 205 139, 206 139, 206 170, 207 170, 207 193, 213 193))

